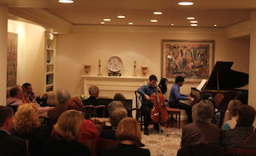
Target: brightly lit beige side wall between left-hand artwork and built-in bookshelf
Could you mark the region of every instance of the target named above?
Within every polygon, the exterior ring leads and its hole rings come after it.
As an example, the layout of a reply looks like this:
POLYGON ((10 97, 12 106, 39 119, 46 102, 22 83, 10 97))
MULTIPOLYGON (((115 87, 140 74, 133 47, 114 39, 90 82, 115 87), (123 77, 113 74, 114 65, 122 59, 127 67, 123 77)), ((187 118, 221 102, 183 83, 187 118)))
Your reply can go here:
POLYGON ((17 84, 30 83, 35 94, 43 95, 45 28, 8 20, 8 32, 18 33, 17 84))

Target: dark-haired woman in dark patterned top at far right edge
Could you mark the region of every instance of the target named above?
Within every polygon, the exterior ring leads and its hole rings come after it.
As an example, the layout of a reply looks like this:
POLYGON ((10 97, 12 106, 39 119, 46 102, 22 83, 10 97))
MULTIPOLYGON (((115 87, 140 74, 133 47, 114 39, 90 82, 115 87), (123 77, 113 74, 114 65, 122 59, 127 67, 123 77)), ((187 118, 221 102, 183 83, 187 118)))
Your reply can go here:
POLYGON ((253 132, 255 115, 256 110, 251 106, 238 107, 237 124, 233 130, 223 131, 221 144, 224 147, 256 147, 256 132, 253 132))

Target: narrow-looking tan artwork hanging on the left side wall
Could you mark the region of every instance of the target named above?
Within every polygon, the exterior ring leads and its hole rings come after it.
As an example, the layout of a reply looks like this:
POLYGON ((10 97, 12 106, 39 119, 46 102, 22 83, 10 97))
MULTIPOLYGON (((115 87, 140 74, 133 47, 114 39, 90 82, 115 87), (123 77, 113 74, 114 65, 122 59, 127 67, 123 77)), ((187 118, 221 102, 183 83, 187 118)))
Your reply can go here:
POLYGON ((7 87, 10 87, 17 81, 18 34, 8 32, 7 44, 7 87))

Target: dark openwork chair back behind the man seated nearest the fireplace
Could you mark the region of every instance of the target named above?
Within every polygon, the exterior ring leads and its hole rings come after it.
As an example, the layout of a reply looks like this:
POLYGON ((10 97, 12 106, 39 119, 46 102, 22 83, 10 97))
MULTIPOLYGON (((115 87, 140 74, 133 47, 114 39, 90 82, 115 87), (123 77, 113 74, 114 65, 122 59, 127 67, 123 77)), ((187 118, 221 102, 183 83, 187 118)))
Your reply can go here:
POLYGON ((97 109, 103 109, 102 117, 104 118, 105 108, 106 108, 106 106, 104 106, 104 105, 98 105, 98 106, 86 105, 83 108, 83 114, 86 119, 89 119, 92 117, 98 117, 97 109))

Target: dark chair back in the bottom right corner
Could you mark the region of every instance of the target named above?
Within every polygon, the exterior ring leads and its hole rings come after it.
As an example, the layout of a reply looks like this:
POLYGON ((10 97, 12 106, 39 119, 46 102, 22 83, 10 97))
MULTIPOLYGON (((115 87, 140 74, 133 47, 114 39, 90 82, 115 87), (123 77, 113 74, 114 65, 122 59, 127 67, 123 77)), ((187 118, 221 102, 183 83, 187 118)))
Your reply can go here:
POLYGON ((247 147, 226 147, 226 156, 236 155, 256 155, 256 148, 247 147))

